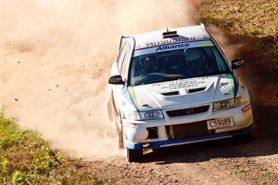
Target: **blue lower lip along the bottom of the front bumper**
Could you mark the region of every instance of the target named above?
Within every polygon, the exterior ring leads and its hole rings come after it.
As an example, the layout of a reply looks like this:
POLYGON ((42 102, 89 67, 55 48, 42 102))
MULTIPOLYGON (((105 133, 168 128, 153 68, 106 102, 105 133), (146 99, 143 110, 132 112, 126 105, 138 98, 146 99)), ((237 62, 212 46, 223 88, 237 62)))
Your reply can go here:
POLYGON ((248 127, 245 127, 243 129, 239 130, 231 130, 227 132, 219 132, 219 133, 213 133, 206 136, 197 136, 193 138, 188 139, 169 139, 165 141, 153 141, 153 142, 145 142, 145 143, 133 143, 129 141, 124 141, 124 148, 129 149, 147 149, 147 148, 161 148, 161 147, 167 147, 167 146, 177 146, 177 145, 183 145, 183 144, 189 144, 189 143, 199 143, 202 141, 211 141, 216 139, 225 139, 232 136, 240 136, 249 134, 254 130, 254 124, 249 125, 248 127))

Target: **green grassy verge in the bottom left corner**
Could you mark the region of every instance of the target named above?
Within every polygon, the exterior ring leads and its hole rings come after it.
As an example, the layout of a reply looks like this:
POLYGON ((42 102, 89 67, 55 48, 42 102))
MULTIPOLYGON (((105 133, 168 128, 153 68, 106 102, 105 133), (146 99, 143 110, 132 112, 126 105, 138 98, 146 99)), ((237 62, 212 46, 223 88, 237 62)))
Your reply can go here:
POLYGON ((84 162, 51 148, 32 130, 20 130, 0 112, 0 184, 113 184, 84 162))

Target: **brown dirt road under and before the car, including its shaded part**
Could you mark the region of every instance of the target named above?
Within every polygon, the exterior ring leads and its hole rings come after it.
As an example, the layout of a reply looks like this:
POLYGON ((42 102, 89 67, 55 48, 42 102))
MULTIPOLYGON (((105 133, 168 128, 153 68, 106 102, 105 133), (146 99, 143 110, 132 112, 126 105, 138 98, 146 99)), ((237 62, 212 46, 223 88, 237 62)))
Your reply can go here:
POLYGON ((136 163, 90 161, 97 175, 117 184, 277 184, 277 107, 253 108, 251 139, 225 139, 147 151, 136 163))

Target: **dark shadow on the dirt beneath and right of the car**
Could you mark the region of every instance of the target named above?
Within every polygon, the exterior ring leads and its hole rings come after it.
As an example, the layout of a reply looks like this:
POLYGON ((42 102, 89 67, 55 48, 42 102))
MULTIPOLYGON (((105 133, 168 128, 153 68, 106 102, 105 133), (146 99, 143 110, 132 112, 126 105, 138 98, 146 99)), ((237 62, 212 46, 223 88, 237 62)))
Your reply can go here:
POLYGON ((278 107, 253 107, 255 129, 248 139, 231 138, 158 148, 149 152, 139 163, 195 163, 216 158, 257 157, 278 154, 278 107))

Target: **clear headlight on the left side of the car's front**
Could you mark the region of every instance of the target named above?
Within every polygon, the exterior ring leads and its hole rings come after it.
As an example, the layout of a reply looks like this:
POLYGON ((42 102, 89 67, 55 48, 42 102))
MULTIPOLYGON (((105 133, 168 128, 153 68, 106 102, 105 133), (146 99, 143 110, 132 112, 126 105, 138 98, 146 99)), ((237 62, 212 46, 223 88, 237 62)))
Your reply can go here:
POLYGON ((164 116, 161 110, 147 111, 147 112, 131 112, 129 119, 132 120, 151 120, 151 119, 163 119, 164 116))

